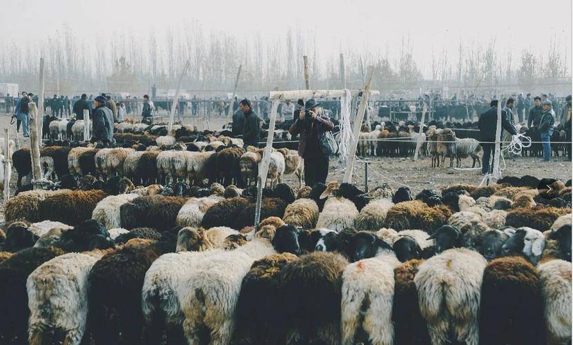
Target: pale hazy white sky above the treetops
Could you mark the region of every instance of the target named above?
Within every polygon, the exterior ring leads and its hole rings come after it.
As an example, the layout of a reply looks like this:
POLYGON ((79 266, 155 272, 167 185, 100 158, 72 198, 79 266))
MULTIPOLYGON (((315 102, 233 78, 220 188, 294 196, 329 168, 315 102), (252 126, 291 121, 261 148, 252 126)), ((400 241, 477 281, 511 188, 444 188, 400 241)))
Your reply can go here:
POLYGON ((409 37, 414 57, 430 63, 431 51, 452 56, 460 40, 496 39, 499 53, 530 48, 541 52, 555 36, 571 61, 571 0, 396 0, 396 1, 144 1, 144 0, 0 0, 0 42, 26 42, 53 34, 66 24, 77 37, 133 30, 157 32, 197 20, 205 30, 237 37, 253 32, 284 34, 288 26, 316 32, 321 50, 335 54, 340 44, 400 47, 409 37), (364 3, 364 5, 362 5, 364 3))

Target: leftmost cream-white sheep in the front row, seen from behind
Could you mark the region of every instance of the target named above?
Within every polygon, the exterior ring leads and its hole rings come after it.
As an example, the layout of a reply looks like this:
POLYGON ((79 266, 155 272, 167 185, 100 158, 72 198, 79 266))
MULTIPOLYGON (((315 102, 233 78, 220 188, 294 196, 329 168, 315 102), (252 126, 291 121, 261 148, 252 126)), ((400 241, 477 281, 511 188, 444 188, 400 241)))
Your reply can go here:
POLYGON ((80 344, 88 317, 88 274, 105 253, 94 250, 60 255, 28 276, 30 345, 41 345, 50 329, 66 332, 64 344, 80 344))

